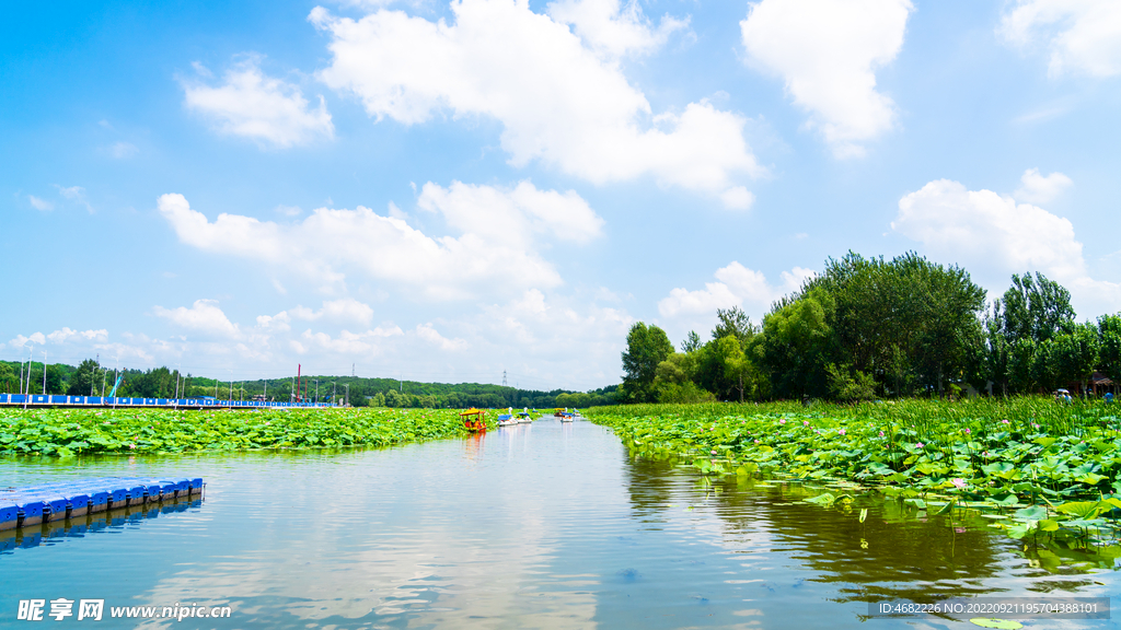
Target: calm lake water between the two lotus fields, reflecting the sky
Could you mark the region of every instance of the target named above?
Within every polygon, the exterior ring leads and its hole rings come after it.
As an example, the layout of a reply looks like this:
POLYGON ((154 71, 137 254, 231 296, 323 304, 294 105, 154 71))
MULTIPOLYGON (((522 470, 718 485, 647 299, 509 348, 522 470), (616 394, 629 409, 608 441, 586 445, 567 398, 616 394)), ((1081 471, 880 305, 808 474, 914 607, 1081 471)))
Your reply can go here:
POLYGON ((869 619, 868 602, 1121 593, 1118 573, 1025 553, 983 519, 868 499, 860 522, 863 498, 826 509, 796 484, 708 482, 586 421, 379 451, 0 460, 0 485, 180 473, 205 478, 205 501, 0 554, 0 627, 24 627, 20 600, 65 597, 104 600, 105 619, 47 627, 975 628, 869 619), (108 619, 142 605, 232 612, 108 619))

